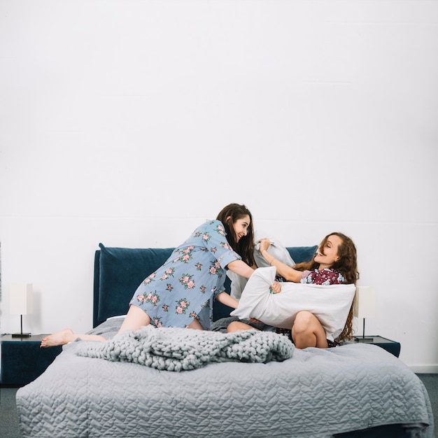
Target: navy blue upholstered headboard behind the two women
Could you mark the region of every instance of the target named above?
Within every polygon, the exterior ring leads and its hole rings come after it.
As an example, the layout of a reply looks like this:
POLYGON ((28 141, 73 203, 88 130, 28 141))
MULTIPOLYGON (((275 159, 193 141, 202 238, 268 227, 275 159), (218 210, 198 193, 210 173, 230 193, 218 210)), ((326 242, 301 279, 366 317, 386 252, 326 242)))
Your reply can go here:
MULTIPOLYGON (((94 255, 93 327, 106 318, 125 315, 129 301, 139 284, 159 268, 174 248, 108 248, 99 243, 94 255)), ((295 263, 311 260, 317 246, 287 248, 295 263)), ((230 291, 229 278, 225 281, 230 291)), ((215 320, 229 316, 230 309, 213 302, 215 320)))

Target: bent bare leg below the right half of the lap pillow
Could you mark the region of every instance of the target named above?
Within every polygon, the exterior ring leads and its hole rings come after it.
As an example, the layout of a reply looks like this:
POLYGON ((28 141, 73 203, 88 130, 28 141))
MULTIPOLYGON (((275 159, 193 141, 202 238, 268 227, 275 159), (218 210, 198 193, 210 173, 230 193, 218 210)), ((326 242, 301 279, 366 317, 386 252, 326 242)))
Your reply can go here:
POLYGON ((324 327, 313 313, 301 311, 292 325, 292 339, 297 348, 327 348, 327 337, 324 327))

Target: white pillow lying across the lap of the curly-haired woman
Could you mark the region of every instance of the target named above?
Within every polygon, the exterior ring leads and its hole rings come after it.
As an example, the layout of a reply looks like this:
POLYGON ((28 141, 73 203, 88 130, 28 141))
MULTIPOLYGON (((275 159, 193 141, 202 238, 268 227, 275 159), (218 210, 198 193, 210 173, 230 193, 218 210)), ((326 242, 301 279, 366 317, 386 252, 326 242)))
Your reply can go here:
POLYGON ((307 310, 323 325, 327 339, 334 341, 344 330, 355 285, 285 282, 281 283, 281 292, 273 294, 269 287, 274 283, 275 273, 275 267, 256 269, 243 289, 239 306, 230 315, 290 329, 297 313, 307 310))

